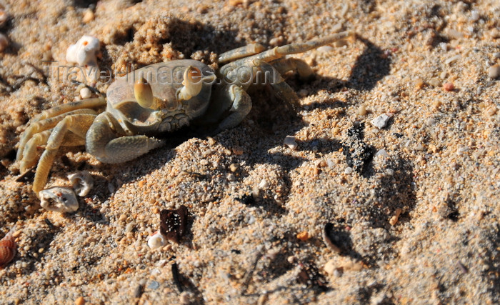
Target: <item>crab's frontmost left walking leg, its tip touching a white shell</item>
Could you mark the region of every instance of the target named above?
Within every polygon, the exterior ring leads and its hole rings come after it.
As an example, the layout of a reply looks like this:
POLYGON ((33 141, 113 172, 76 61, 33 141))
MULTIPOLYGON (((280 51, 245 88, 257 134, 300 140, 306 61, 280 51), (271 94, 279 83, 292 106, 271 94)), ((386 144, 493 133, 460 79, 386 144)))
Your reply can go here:
POLYGON ((64 139, 68 139, 66 137, 67 132, 71 131, 76 136, 84 139, 85 132, 89 129, 95 117, 95 114, 72 114, 70 116, 65 116, 64 119, 59 121, 54 127, 49 139, 47 139, 45 151, 41 154, 38 166, 36 167, 36 174, 32 187, 36 196, 38 196, 39 191, 41 191, 46 184, 50 168, 52 163, 54 163, 54 158, 56 157, 57 151, 59 151, 59 147, 64 145, 64 139))

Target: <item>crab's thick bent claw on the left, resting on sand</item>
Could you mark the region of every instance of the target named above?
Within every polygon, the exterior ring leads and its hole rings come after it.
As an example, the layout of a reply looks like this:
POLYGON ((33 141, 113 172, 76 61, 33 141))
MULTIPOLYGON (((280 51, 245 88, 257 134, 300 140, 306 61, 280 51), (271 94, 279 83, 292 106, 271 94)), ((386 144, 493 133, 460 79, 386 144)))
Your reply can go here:
POLYGON ((126 136, 108 112, 99 114, 86 134, 86 151, 104 163, 130 161, 162 144, 164 141, 149 136, 126 136))

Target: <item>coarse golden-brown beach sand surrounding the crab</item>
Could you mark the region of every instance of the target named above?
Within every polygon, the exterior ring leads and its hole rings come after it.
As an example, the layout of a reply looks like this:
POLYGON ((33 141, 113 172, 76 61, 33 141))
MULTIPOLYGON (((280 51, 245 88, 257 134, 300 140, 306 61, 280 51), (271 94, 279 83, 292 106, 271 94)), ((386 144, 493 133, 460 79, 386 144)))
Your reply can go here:
POLYGON ((2 304, 500 302, 498 1, 90 2, 2 2, 0 236, 15 225, 19 247, 2 304), (83 35, 117 75, 341 30, 358 36, 296 55, 316 73, 286 75, 299 111, 260 86, 249 116, 209 138, 166 135, 114 165, 61 149, 47 186, 94 178, 70 214, 41 209, 33 177, 18 178, 29 120, 79 99, 54 66, 83 35), (179 244, 149 249, 160 211, 181 205, 179 244))

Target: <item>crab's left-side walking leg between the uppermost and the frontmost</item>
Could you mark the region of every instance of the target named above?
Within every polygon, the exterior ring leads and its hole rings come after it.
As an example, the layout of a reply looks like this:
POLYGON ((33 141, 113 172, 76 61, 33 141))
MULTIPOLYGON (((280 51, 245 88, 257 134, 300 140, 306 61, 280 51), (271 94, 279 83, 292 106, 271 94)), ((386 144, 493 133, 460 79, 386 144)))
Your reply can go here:
POLYGON ((17 150, 18 160, 21 162, 19 166, 19 171, 21 171, 21 173, 24 173, 36 163, 36 146, 45 144, 47 139, 44 139, 44 137, 48 138, 45 131, 54 128, 54 126, 56 126, 66 116, 76 114, 96 115, 96 111, 92 109, 77 109, 66 114, 59 114, 58 116, 52 116, 48 119, 43 119, 30 124, 28 129, 26 129, 24 134, 21 136, 21 144, 17 150), (42 132, 44 134, 40 134, 42 132))

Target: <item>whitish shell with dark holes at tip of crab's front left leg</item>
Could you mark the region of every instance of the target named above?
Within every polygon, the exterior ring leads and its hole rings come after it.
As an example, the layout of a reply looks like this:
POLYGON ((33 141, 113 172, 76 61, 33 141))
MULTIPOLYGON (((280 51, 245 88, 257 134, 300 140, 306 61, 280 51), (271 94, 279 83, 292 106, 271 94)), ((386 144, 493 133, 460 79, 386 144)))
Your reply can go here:
POLYGON ((59 213, 73 212, 79 207, 78 200, 72 189, 64 186, 55 186, 39 191, 40 205, 47 211, 59 213))

